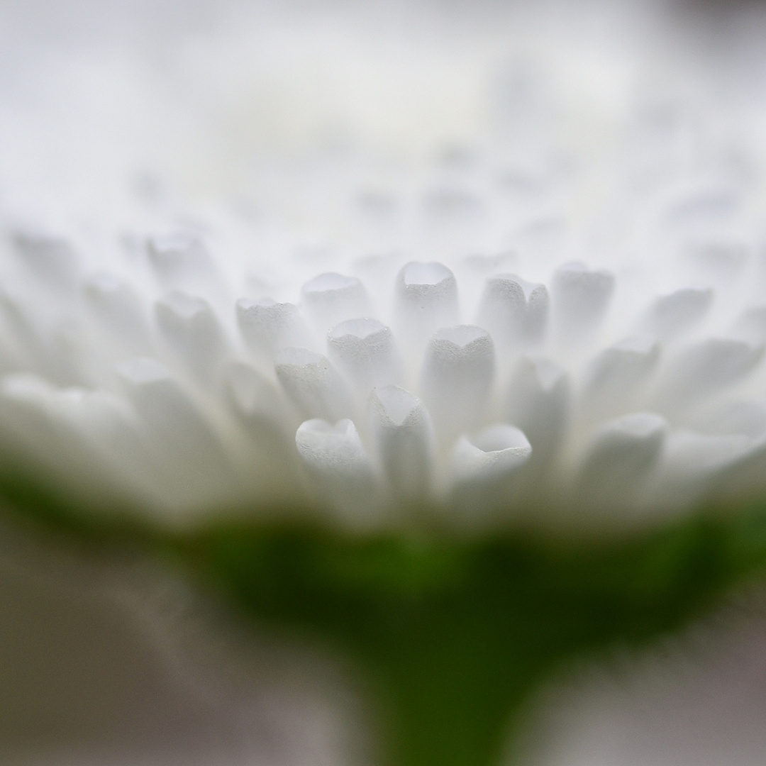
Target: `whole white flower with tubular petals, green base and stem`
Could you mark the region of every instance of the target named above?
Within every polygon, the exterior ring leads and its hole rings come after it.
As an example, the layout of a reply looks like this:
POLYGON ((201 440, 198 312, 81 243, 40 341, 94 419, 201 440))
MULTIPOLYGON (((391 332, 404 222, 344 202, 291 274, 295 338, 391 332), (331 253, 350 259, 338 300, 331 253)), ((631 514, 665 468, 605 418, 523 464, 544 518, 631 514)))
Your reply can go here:
POLYGON ((412 766, 489 763, 551 663, 761 561, 744 34, 703 57, 627 3, 84 8, 7 13, 11 505, 341 646, 412 766))

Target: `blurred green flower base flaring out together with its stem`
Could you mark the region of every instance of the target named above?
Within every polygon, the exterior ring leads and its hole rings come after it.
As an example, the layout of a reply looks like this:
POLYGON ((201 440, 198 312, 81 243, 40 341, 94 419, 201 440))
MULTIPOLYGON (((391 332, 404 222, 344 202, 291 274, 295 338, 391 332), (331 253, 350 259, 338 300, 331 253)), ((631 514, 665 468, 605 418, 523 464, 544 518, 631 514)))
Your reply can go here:
POLYGON ((555 666, 673 630, 760 566, 766 545, 741 532, 697 519, 564 550, 218 529, 186 541, 182 557, 250 614, 356 663, 386 766, 493 766, 513 714, 555 666), (747 565, 745 539, 758 551, 747 565))

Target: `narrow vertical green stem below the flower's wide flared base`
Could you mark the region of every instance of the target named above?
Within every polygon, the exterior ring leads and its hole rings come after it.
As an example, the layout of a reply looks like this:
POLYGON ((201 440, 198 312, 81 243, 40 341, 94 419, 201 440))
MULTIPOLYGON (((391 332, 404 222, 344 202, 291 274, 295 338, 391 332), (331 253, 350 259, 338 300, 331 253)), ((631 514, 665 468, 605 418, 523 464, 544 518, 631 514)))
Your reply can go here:
POLYGON ((385 762, 492 766, 500 761, 512 711, 541 670, 538 657, 518 651, 503 620, 487 630, 475 613, 466 623, 459 609, 436 611, 417 614, 401 630, 381 631, 366 647, 387 733, 385 762))

